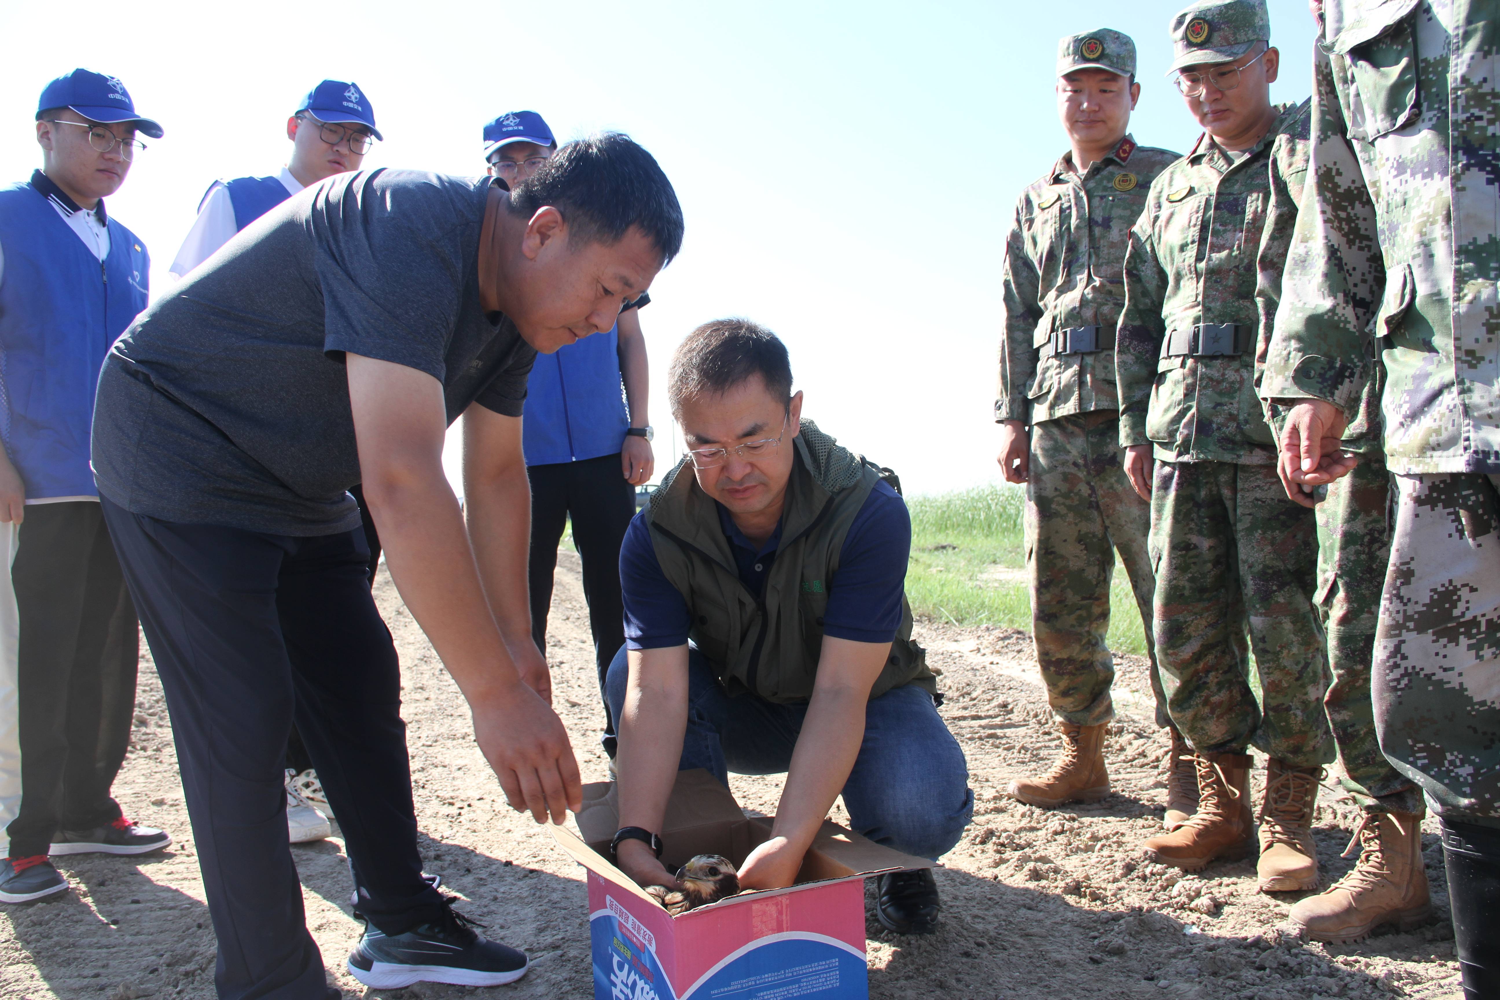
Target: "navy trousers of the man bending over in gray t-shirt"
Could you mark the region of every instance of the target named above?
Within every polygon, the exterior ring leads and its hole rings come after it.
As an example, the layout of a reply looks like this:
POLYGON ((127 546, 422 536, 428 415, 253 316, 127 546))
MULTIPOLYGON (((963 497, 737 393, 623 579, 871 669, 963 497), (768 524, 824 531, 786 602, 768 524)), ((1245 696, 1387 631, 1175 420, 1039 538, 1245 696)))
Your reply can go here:
POLYGON ((360 529, 310 538, 178 525, 100 501, 171 711, 224 1000, 324 1000, 286 843, 296 718, 339 817, 358 910, 436 919, 422 879, 400 675, 360 529))

